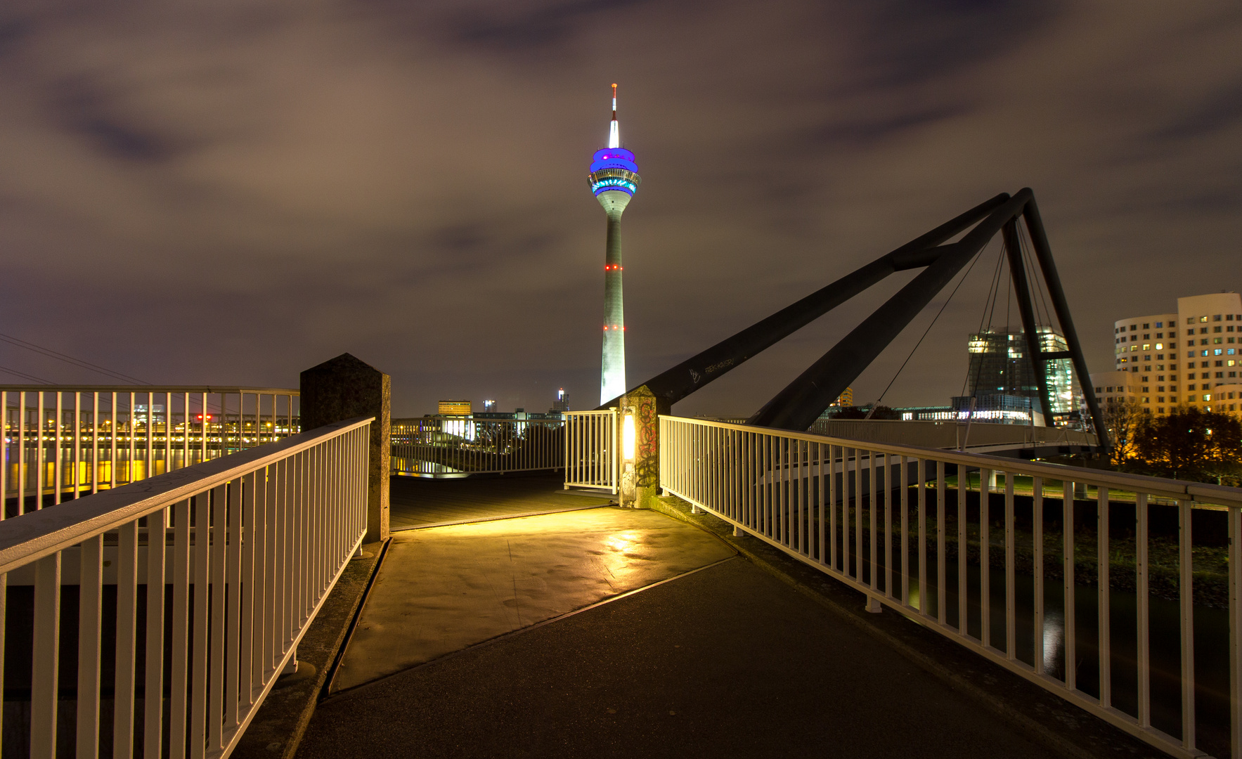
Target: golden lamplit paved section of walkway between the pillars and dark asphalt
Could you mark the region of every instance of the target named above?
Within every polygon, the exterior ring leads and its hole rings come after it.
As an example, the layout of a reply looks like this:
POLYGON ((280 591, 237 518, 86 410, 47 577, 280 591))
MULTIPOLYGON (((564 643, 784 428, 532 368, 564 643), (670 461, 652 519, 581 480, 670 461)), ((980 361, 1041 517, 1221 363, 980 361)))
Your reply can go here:
POLYGON ((395 533, 332 692, 734 553, 691 524, 615 507, 395 533))

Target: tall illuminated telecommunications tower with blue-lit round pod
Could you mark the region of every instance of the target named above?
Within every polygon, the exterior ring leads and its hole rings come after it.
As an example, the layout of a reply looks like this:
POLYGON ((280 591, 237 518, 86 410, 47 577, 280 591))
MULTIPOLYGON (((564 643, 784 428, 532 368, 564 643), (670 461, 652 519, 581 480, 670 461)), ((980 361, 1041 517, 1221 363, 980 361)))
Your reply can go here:
POLYGON ((612 86, 612 123, 609 147, 591 158, 591 193, 609 217, 604 256, 604 361, 600 371, 600 404, 626 391, 625 309, 621 301, 621 214, 638 189, 638 164, 633 153, 621 147, 617 128, 617 86, 612 86))

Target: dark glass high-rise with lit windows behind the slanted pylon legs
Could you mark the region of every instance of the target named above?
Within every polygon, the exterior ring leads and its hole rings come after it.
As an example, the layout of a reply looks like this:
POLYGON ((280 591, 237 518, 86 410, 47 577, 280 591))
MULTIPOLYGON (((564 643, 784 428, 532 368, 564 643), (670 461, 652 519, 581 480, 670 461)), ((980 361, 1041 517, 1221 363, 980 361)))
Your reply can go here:
MULTIPOLYGON (((1051 327, 1040 327, 1040 350, 1064 353, 1069 349, 1064 335, 1051 327)), ((968 345, 970 366, 966 394, 955 396, 956 411, 974 410, 975 419, 1030 424, 1032 414, 1051 414, 1058 424, 1082 425, 1082 394, 1076 390, 1073 364, 1069 359, 1046 359, 1043 366, 1051 409, 1043 407, 1035 366, 1021 329, 989 329, 970 335, 968 345), (971 404, 971 401, 974 401, 971 404)), ((1051 422, 1051 419, 1046 419, 1051 422)))

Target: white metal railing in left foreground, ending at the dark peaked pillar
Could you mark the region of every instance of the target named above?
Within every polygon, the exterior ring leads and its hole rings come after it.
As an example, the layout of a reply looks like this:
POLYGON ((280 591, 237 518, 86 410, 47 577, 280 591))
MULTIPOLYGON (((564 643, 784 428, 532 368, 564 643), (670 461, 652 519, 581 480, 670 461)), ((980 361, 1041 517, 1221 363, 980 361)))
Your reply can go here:
POLYGON ((365 534, 371 421, 0 522, 5 755, 229 755, 365 534))

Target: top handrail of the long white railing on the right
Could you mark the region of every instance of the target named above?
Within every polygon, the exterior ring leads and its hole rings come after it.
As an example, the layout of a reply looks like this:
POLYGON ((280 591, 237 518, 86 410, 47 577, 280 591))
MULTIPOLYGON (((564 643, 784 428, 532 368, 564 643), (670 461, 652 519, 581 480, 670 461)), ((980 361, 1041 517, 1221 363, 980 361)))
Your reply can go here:
POLYGON ((1149 477, 1146 475, 1129 475, 1125 472, 1107 472, 1104 470, 1090 470, 1086 467, 1072 467, 1062 463, 1048 463, 1043 461, 1022 461, 1018 463, 1013 458, 1002 456, 987 456, 986 453, 959 452, 946 448, 925 448, 922 446, 903 446, 889 442, 871 442, 864 440, 850 440, 847 437, 828 437, 827 435, 815 435, 812 432, 795 432, 791 430, 777 430, 774 427, 758 427, 754 425, 735 425, 729 422, 709 421, 687 416, 664 415, 666 419, 691 422, 708 427, 720 427, 725 430, 738 430, 741 432, 763 432, 768 435, 780 435, 791 440, 807 442, 826 442, 847 448, 866 448, 878 453, 892 453, 894 456, 912 456, 917 458, 934 458, 946 463, 956 463, 966 467, 982 467, 1000 471, 1021 468, 1022 473, 1047 476, 1052 479, 1072 479, 1088 484, 1104 484, 1125 491, 1141 491, 1154 496, 1175 498, 1179 501, 1194 501, 1208 506, 1233 506, 1242 507, 1242 488, 1223 484, 1211 484, 1206 482, 1187 482, 1185 479, 1166 479, 1164 477, 1149 477), (991 466, 989 466, 991 465, 991 466))

